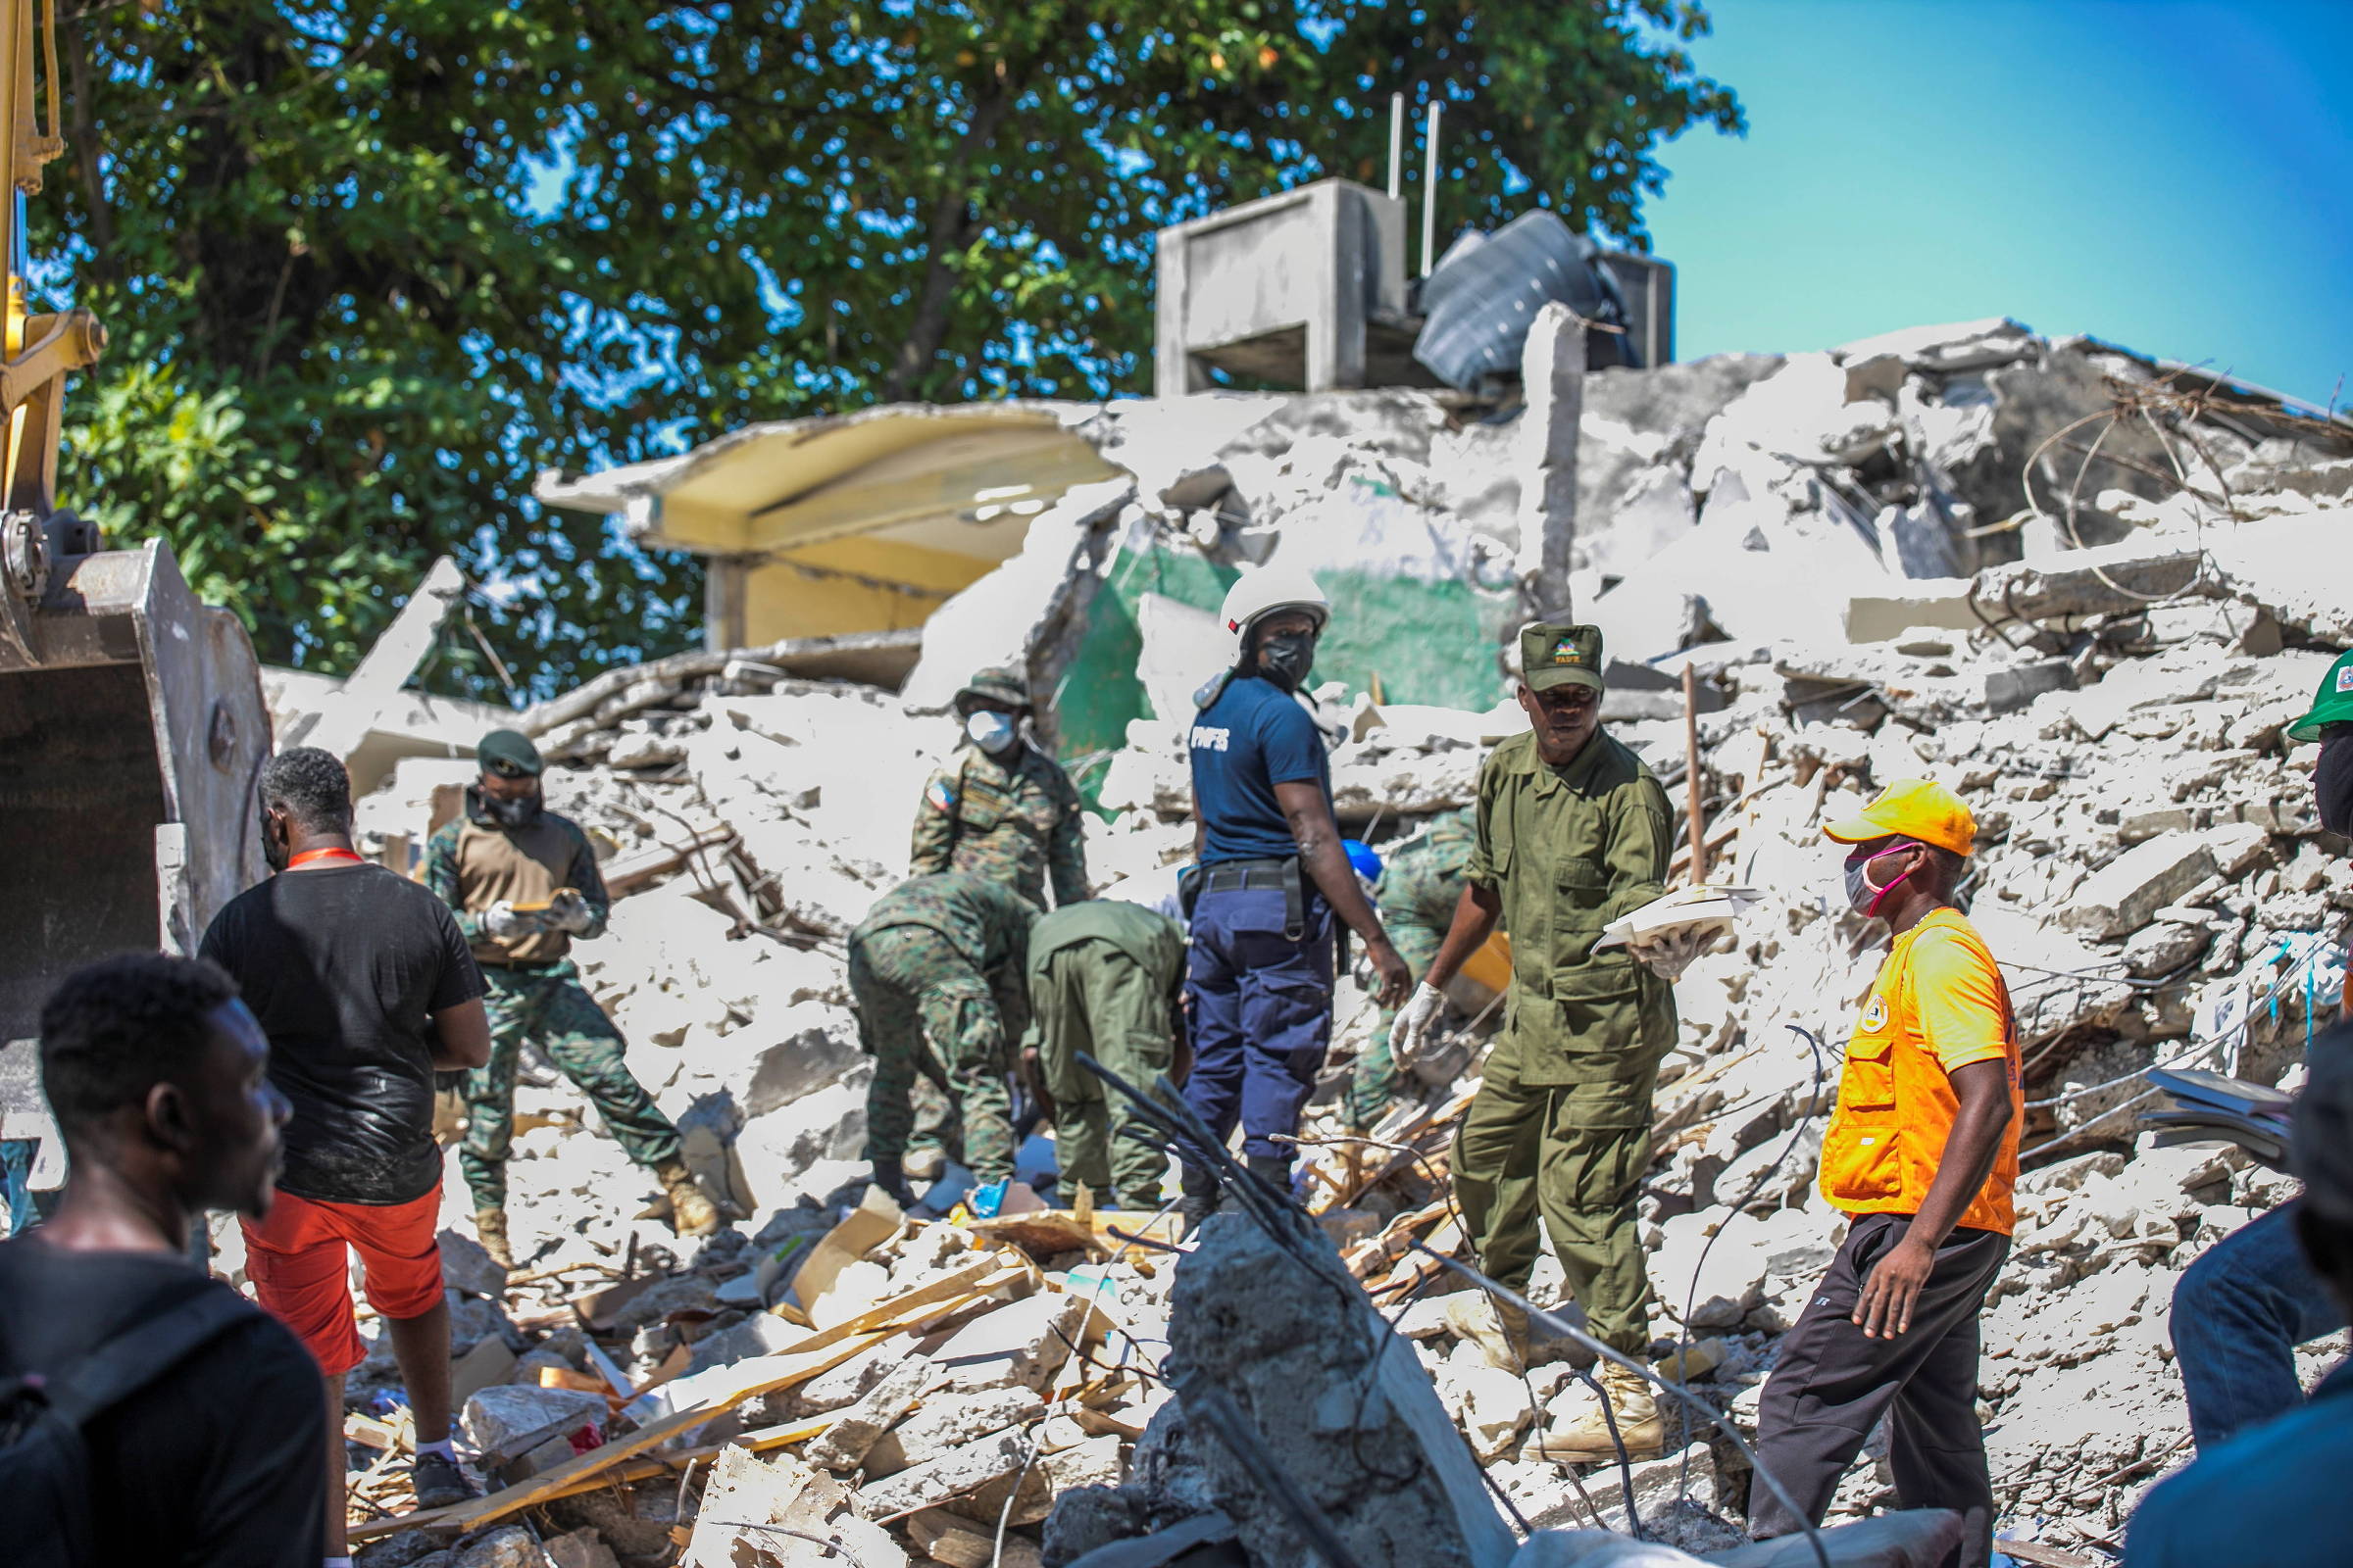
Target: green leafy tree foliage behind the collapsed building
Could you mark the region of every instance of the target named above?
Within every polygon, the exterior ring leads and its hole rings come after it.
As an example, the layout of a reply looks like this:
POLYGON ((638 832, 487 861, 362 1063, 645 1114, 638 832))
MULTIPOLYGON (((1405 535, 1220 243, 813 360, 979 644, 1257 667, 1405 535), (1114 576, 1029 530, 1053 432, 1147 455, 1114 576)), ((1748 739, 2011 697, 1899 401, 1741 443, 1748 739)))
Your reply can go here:
MULTIPOLYGON (((61 0, 35 277, 99 310, 61 489, 165 534, 264 658, 348 668, 440 550, 548 691, 692 639, 692 564, 539 468, 899 397, 1141 390, 1153 228, 1381 179, 1642 240, 1741 129, 1668 0, 61 0)), ((482 686, 452 646, 435 684, 482 686)))

